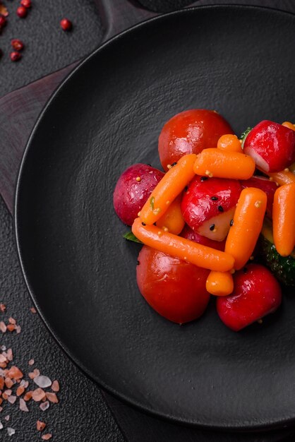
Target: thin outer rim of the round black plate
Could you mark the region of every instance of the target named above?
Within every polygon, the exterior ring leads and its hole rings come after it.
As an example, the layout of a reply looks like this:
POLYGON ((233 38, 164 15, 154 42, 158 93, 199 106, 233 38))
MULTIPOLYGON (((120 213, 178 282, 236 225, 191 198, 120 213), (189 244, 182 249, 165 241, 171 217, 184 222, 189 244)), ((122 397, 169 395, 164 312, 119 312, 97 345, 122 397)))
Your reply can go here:
MULTIPOLYGON (((244 4, 212 4, 212 5, 201 5, 201 6, 191 6, 183 9, 179 9, 176 11, 171 11, 169 13, 162 13, 159 16, 155 16, 152 18, 148 18, 147 20, 143 20, 142 22, 131 26, 130 28, 127 28, 126 30, 119 32, 119 34, 114 35, 106 42, 102 43, 99 47, 94 49, 88 56, 85 56, 84 59, 82 59, 77 66, 73 68, 73 70, 66 75, 64 80, 61 81, 61 83, 57 86, 57 88, 52 92, 52 95, 47 100, 46 104, 44 104, 44 107, 42 108, 39 116, 37 117, 37 120, 35 121, 35 124, 32 128, 32 131, 30 132, 30 136, 28 138, 28 141, 25 145, 25 149, 23 151, 22 159, 20 161, 20 167, 18 169, 17 179, 16 179, 16 186, 14 191, 14 198, 13 198, 13 231, 14 231, 14 237, 16 239, 16 249, 18 254, 18 262, 20 263, 20 268, 23 273, 23 278, 25 280, 25 285, 28 289, 28 292, 30 294, 30 298, 32 299, 32 302, 34 303, 44 325, 46 325, 47 330, 49 330, 49 333, 52 335, 56 343, 59 345, 61 350, 66 354, 66 357, 68 357, 75 366, 83 372, 85 376, 90 378, 92 382, 95 382, 99 388, 102 388, 107 393, 114 396, 114 398, 119 399, 126 403, 126 405, 129 405, 131 407, 135 407, 136 410, 139 410, 140 412, 144 412, 152 417, 163 419, 167 422, 172 422, 174 424, 180 424, 184 426, 190 426, 193 428, 199 428, 199 429, 207 429, 207 430, 220 430, 220 431, 231 431, 231 432, 239 432, 239 431, 257 431, 257 430, 274 430, 274 429, 283 429, 287 426, 295 423, 295 414, 293 417, 286 417, 281 420, 272 419, 270 422, 265 424, 256 424, 248 422, 248 424, 239 424, 239 423, 233 423, 227 424, 227 422, 224 422, 224 424, 207 424, 205 422, 200 422, 198 419, 183 419, 179 417, 175 417, 169 413, 163 413, 163 412, 157 412, 152 409, 152 407, 143 406, 140 404, 140 402, 137 402, 136 400, 132 400, 131 398, 128 398, 125 394, 120 393, 115 388, 112 388, 112 386, 107 385, 102 381, 102 379, 99 379, 98 377, 94 376, 93 374, 90 374, 90 371, 87 369, 87 367, 84 366, 80 360, 76 359, 76 357, 71 354, 71 351, 68 350, 67 346, 62 342, 62 340, 56 335, 56 332, 54 331, 54 328, 49 324, 50 321, 47 321, 47 318, 45 317, 44 313, 42 312, 42 309, 39 306, 37 296, 32 289, 28 276, 26 274, 25 270, 25 263, 23 260, 23 256, 21 253, 21 239, 20 239, 20 232, 19 232, 19 215, 18 215, 18 201, 20 199, 20 189, 22 187, 22 180, 23 180, 23 170, 25 169, 25 163, 26 158, 28 156, 28 152, 30 150, 30 146, 32 144, 33 138, 35 137, 35 133, 37 132, 40 123, 42 122, 42 119, 44 117, 44 114, 47 113, 48 109, 51 107, 52 102, 54 100, 58 99, 59 93, 66 87, 66 84, 68 81, 71 80, 72 77, 76 75, 76 73, 80 70, 80 68, 83 68, 85 64, 88 64, 88 61, 90 61, 92 58, 97 56, 97 54, 100 54, 105 48, 107 48, 109 45, 114 44, 116 40, 119 40, 124 37, 129 32, 133 32, 133 30, 136 30, 138 28, 144 27, 148 23, 154 22, 156 20, 166 20, 169 16, 176 16, 176 15, 182 15, 183 13, 191 13, 191 11, 200 11, 201 9, 205 10, 216 10, 216 9, 224 9, 224 8, 231 8, 231 9, 252 9, 252 10, 261 10, 261 11, 272 11, 272 13, 276 13, 278 15, 288 15, 295 17, 294 13, 291 13, 289 11, 282 11, 281 9, 274 8, 271 6, 256 6, 256 5, 244 5, 244 4)), ((109 406, 109 405, 108 405, 109 406)))

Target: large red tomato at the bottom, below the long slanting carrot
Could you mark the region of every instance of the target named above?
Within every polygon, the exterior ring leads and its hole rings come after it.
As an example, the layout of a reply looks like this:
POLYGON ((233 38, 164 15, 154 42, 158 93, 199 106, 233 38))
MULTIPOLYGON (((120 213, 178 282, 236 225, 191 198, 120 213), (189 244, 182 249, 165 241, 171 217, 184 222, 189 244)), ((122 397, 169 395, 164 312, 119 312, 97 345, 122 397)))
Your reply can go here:
POLYGON ((143 246, 136 275, 145 300, 169 321, 180 324, 193 321, 207 307, 209 270, 143 246))

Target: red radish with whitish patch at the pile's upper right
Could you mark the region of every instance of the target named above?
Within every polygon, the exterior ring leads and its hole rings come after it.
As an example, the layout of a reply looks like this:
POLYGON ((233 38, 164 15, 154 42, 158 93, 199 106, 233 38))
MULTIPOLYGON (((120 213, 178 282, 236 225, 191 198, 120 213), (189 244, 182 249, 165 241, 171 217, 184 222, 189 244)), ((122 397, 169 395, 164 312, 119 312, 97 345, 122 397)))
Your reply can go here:
POLYGON ((243 151, 265 172, 279 172, 295 161, 295 131, 274 121, 260 121, 248 133, 243 151))

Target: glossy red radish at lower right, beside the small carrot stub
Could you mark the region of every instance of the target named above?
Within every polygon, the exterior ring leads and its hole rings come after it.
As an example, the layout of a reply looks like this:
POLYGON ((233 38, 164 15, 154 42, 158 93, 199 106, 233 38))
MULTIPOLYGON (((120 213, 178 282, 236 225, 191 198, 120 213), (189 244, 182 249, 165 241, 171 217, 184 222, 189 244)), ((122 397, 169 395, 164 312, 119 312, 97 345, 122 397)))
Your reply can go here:
POLYGON ((234 292, 217 299, 217 313, 222 322, 239 331, 273 313, 282 301, 279 282, 260 264, 249 264, 234 274, 234 292))

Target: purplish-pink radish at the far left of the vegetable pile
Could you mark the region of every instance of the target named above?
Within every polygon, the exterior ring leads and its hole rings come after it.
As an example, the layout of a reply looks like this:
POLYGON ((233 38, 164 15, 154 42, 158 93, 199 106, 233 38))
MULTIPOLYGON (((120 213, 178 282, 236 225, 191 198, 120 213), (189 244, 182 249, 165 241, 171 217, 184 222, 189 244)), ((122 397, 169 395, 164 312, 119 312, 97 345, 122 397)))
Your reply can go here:
POLYGON ((113 203, 116 214, 126 225, 132 225, 138 212, 164 177, 155 167, 136 164, 121 174, 114 190, 113 203))

